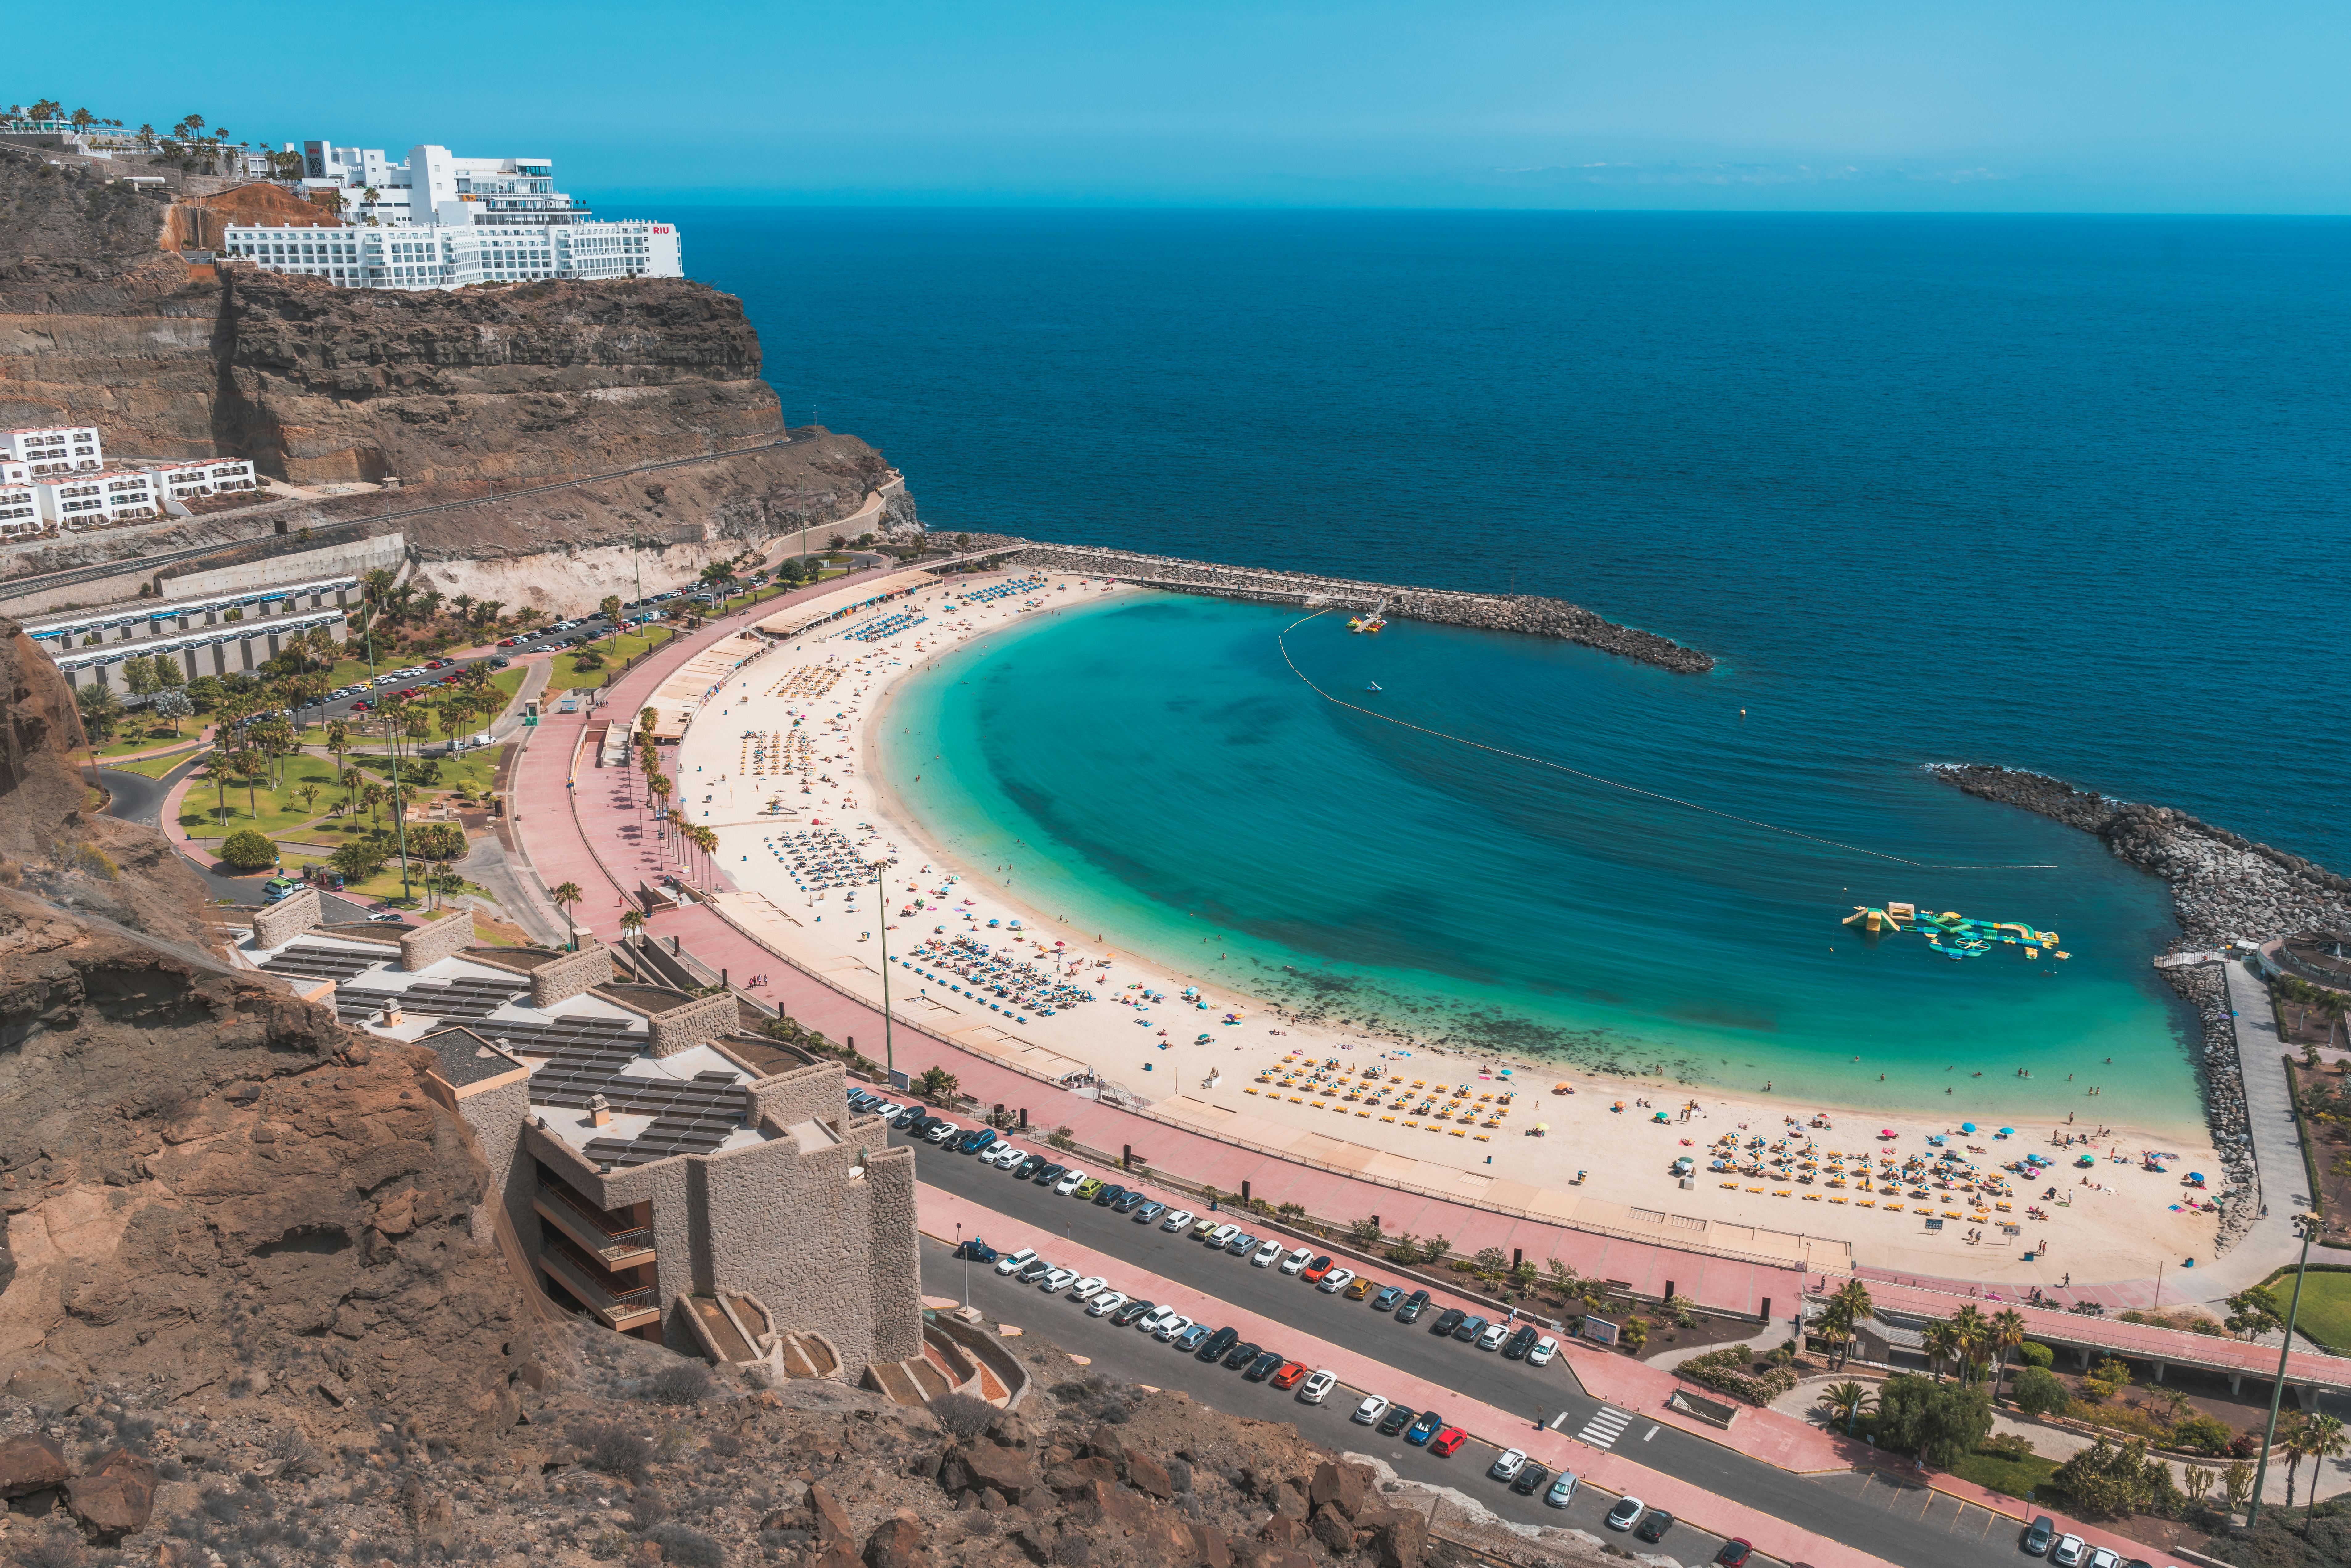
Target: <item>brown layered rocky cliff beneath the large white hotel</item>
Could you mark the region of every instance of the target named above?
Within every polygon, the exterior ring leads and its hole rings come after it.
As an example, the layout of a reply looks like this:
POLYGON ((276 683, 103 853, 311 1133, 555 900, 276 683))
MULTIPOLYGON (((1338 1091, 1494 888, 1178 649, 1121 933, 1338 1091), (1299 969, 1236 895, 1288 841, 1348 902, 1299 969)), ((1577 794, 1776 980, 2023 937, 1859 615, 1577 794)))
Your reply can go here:
MULTIPOLYGON (((186 228, 169 202, 12 148, 0 212, 0 425, 94 423, 113 454, 249 456, 306 487, 402 482, 397 498, 303 508, 289 529, 463 498, 480 505, 400 524, 421 562, 632 536, 726 555, 849 520, 893 477, 856 437, 785 440, 741 301, 696 282, 395 294, 214 268, 167 249, 186 228), (550 482, 564 487, 501 496, 550 482)), ((912 517, 903 494, 889 510, 912 517)), ((73 536, 12 569, 125 559, 167 531, 73 536)))

